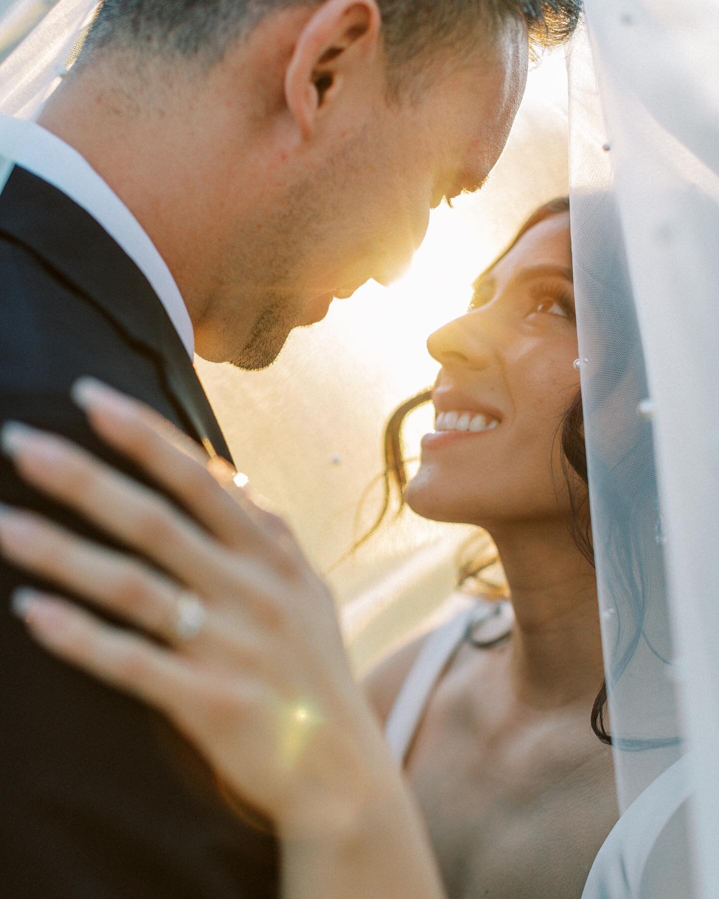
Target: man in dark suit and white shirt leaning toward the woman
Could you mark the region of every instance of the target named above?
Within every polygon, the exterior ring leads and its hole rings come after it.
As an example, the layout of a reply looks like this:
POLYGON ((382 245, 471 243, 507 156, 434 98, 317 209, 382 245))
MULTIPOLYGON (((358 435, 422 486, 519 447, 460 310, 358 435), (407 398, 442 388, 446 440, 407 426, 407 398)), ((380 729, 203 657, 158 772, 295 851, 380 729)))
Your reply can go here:
MULTIPOLYGON (((0 422, 141 479, 68 399, 90 374, 228 457, 193 352, 262 369, 404 271, 430 209, 500 155, 528 33, 562 40, 578 4, 105 0, 40 123, 0 117, 0 422)), ((5 459, 0 502, 92 533, 5 459)), ((31 644, 7 608, 26 580, 0 563, 0 895, 277 895, 274 841, 191 748, 31 644)))

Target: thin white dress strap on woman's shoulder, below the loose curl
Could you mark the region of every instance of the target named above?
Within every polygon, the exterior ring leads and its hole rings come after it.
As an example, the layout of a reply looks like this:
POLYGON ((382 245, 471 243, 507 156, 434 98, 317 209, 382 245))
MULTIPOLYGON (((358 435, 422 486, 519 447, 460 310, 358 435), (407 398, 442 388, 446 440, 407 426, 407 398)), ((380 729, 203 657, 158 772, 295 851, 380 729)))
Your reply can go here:
POLYGON ((431 692, 461 645, 467 628, 489 618, 494 609, 493 603, 487 602, 482 606, 463 610, 447 624, 432 631, 425 640, 386 719, 386 742, 400 765, 409 752, 431 692))

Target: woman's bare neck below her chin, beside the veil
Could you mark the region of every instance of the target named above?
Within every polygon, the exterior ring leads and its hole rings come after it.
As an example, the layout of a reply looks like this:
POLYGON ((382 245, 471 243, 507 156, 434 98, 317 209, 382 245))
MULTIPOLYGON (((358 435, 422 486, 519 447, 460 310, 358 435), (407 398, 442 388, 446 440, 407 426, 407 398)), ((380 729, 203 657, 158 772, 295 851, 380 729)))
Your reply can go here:
POLYGON ((513 693, 537 708, 593 699, 604 677, 594 568, 567 522, 493 531, 515 614, 513 693))

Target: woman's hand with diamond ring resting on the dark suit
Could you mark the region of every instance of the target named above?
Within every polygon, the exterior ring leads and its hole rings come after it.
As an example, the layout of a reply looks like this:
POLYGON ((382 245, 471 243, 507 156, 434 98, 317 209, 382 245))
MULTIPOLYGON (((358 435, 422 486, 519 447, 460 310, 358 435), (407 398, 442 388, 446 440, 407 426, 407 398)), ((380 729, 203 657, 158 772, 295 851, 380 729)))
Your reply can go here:
POLYGON ((381 804, 384 743, 352 680, 333 598, 287 527, 146 406, 90 379, 74 396, 102 439, 194 520, 69 441, 6 425, 4 450, 27 481, 154 563, 2 510, 0 542, 15 565, 133 626, 22 590, 14 606, 31 634, 162 710, 280 832, 342 829, 381 804))

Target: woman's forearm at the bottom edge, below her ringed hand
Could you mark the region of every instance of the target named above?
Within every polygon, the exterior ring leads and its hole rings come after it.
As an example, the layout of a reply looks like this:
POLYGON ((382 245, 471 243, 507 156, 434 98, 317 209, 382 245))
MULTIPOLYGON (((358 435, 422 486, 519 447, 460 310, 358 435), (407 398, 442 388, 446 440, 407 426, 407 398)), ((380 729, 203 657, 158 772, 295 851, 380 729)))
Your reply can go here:
POLYGON ((354 822, 281 841, 283 899, 446 899, 420 814, 398 779, 354 822))

